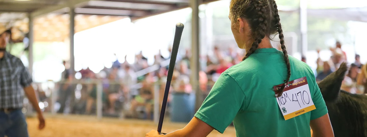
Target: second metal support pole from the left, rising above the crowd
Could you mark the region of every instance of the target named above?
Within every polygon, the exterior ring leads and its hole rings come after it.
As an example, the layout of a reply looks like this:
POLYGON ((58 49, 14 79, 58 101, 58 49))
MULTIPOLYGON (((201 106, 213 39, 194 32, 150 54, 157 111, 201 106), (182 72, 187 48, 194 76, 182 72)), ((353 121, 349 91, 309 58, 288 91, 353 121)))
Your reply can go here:
POLYGON ((75 58, 74 58, 74 34, 75 34, 75 8, 70 7, 70 71, 75 76, 75 58))

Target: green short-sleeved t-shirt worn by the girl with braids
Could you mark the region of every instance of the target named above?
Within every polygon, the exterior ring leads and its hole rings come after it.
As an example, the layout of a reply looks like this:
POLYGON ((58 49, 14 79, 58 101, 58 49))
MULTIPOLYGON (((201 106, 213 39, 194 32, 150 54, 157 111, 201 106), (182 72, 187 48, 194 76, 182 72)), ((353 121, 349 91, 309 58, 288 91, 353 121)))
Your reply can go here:
POLYGON ((223 72, 195 117, 220 133, 233 121, 237 137, 310 137, 310 120, 328 111, 309 66, 292 56, 289 60, 290 80, 306 76, 315 110, 284 120, 273 90, 287 76, 284 54, 267 48, 223 72))

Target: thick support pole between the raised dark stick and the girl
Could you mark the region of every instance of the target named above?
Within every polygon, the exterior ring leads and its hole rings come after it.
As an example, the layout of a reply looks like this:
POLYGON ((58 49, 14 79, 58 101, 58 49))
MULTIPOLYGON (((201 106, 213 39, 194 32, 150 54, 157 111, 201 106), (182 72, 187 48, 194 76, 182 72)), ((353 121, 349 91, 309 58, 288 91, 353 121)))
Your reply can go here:
POLYGON ((196 106, 195 111, 201 106, 200 103, 200 88, 199 88, 199 0, 190 0, 190 6, 192 8, 192 29, 191 29, 191 50, 192 56, 190 61, 191 69, 191 85, 196 94, 196 106))

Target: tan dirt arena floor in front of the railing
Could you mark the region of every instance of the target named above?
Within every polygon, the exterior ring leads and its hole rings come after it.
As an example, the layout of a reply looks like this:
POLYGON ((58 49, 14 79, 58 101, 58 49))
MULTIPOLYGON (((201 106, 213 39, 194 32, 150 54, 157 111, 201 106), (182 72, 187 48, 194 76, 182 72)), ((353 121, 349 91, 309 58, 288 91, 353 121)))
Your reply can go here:
MULTIPOLYGON (((183 128, 185 123, 172 123, 167 118, 162 132, 183 128)), ((36 118, 27 118, 30 137, 145 137, 157 124, 151 121, 103 118, 76 115, 46 115, 46 128, 38 130, 36 118)), ((235 128, 228 127, 224 134, 214 130, 208 137, 236 137, 235 128)))

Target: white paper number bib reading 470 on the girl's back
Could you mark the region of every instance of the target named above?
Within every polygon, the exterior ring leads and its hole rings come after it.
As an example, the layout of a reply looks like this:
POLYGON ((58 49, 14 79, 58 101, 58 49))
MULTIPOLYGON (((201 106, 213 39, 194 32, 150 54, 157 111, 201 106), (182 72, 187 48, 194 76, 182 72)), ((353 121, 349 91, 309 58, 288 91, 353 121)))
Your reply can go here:
MULTIPOLYGON (((274 86, 274 90, 276 91, 280 86, 284 86, 284 84, 274 86)), ((306 77, 289 81, 283 94, 276 100, 285 120, 316 109, 306 77)))

